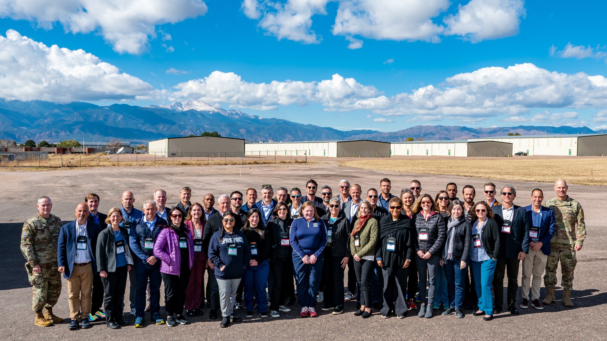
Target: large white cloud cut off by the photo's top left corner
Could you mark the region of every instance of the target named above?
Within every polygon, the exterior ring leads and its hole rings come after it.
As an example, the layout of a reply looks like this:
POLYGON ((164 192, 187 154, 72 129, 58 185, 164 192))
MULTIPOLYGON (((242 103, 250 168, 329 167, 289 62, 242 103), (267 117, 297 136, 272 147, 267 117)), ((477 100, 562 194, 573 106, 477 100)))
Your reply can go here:
POLYGON ((44 29, 59 22, 72 33, 98 30, 120 53, 143 52, 148 39, 156 36, 156 25, 196 18, 206 11, 202 0, 0 0, 0 17, 36 22, 44 29))

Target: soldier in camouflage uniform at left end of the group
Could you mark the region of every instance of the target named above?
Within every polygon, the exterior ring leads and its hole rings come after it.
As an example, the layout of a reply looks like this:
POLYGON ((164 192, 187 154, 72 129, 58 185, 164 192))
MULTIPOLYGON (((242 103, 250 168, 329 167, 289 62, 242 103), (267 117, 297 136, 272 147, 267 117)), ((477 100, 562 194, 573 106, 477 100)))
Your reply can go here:
POLYGON ((21 231, 21 252, 27 260, 25 270, 33 286, 32 310, 36 326, 63 322, 53 314, 53 306, 61 294, 61 274, 57 269, 57 240, 61 219, 50 214, 53 204, 49 197, 38 199, 38 214, 25 221, 21 231), (42 308, 46 312, 42 314, 42 308))

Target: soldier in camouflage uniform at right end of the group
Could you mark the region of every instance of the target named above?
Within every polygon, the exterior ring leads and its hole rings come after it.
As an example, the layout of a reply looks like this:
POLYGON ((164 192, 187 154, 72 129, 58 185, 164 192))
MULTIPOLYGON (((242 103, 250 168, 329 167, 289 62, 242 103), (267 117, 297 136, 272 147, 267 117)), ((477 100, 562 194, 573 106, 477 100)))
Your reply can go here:
POLYGON ((554 211, 555 232, 552 237, 550 248, 551 254, 546 263, 546 275, 544 285, 548 289, 548 295, 544 299, 544 305, 555 302, 554 286, 557 284, 557 266, 561 262, 561 286, 563 286, 563 304, 569 308, 571 302, 571 289, 573 288, 573 272, 577 259, 575 252, 582 249, 586 238, 586 224, 584 223, 584 210, 577 201, 567 195, 567 183, 565 180, 557 180, 554 191, 557 197, 546 201, 544 206, 554 211))

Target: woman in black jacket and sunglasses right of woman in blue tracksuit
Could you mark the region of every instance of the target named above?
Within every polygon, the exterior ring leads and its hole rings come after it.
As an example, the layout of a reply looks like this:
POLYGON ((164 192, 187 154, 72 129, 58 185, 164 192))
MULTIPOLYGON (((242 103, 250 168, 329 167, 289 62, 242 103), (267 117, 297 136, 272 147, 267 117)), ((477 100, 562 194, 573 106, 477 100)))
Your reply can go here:
POLYGON ((325 279, 323 311, 344 312, 344 269, 350 260, 350 222, 341 211, 339 198, 331 198, 329 212, 322 217, 327 226, 327 247, 322 277, 325 279))

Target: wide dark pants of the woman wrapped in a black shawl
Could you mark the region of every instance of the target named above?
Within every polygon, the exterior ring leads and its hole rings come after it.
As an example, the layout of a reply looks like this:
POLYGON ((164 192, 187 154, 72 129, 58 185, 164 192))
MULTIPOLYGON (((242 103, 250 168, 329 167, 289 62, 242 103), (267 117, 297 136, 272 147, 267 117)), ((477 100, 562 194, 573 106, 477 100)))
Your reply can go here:
MULTIPOLYGON (((409 262, 409 264, 411 263, 413 262, 409 262)), ((388 316, 390 311, 394 311, 396 315, 401 315, 409 310, 406 294, 410 267, 403 269, 399 266, 398 269, 393 270, 391 275, 388 275, 386 268, 381 269, 384 279, 384 306, 381 309, 382 315, 388 316)))

